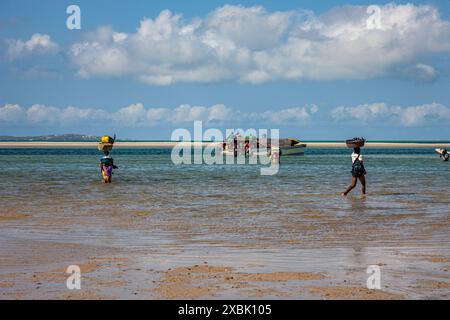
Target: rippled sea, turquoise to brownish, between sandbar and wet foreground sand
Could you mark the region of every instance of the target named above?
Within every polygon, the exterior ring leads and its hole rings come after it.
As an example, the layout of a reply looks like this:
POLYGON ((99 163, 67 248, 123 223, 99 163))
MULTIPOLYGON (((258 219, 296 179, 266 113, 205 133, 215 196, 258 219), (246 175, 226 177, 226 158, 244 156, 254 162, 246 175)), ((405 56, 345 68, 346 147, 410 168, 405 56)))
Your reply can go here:
MULTIPOLYGON (((340 193, 350 183, 351 160, 349 150, 342 148, 311 148, 305 156, 283 157, 275 176, 261 176, 259 165, 176 166, 170 150, 117 149, 113 156, 119 169, 111 185, 101 182, 100 154, 93 149, 0 149, 0 210, 93 221, 109 215, 120 221, 140 213, 155 230, 153 235, 175 225, 191 240, 229 243, 270 241, 277 235, 287 242, 311 240, 306 246, 315 246, 313 240, 319 239, 322 245, 347 245, 355 226, 327 225, 340 218, 365 221, 361 230, 373 227, 378 233, 369 238, 382 243, 446 236, 430 233, 427 225, 449 214, 449 163, 423 148, 367 149, 363 155, 368 194, 361 196, 358 186, 343 199, 340 193), (416 223, 424 225, 416 228, 416 223), (295 224, 307 230, 297 232, 295 224), (398 225, 402 228, 392 234, 389 228, 398 225), (339 232, 327 233, 327 228, 339 232)), ((146 241, 142 234, 135 237, 134 245, 146 241)), ((114 241, 120 242, 120 237, 114 241)))

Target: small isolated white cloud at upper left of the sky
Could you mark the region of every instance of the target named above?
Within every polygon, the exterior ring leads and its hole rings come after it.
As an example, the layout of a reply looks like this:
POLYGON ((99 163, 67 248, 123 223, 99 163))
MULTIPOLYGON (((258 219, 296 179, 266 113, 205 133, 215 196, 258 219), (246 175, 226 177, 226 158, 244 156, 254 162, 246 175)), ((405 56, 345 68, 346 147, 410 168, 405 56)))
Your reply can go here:
POLYGON ((8 55, 11 59, 32 54, 53 54, 58 51, 58 45, 47 34, 35 33, 29 40, 11 39, 7 43, 8 55))

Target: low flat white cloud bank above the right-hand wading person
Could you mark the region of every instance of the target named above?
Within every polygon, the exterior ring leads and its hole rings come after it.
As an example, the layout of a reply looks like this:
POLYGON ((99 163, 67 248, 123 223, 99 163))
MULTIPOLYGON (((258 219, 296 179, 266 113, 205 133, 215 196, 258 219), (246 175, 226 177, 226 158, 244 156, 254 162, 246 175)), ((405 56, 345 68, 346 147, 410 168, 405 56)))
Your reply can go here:
POLYGON ((356 120, 362 125, 387 124, 414 127, 450 120, 450 108, 439 103, 409 107, 374 103, 355 107, 337 107, 331 111, 331 116, 337 121, 356 120))

